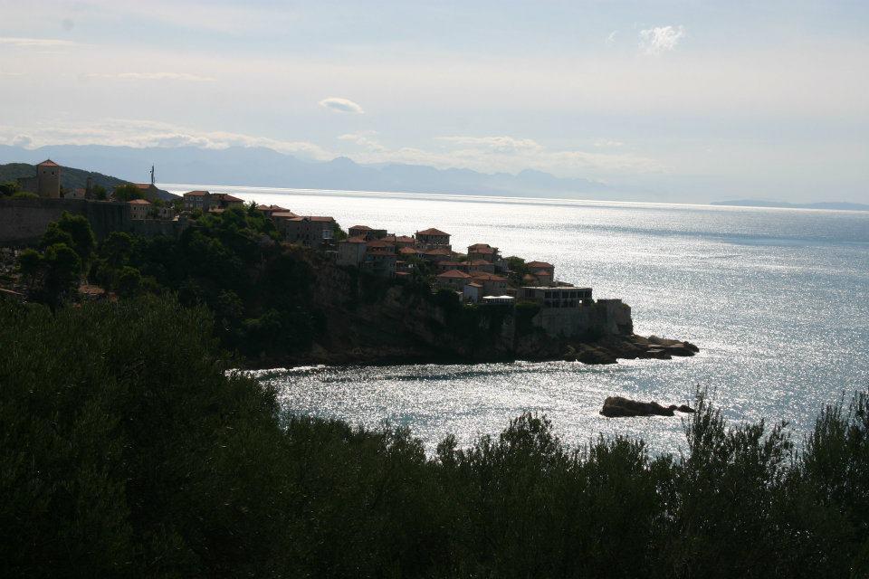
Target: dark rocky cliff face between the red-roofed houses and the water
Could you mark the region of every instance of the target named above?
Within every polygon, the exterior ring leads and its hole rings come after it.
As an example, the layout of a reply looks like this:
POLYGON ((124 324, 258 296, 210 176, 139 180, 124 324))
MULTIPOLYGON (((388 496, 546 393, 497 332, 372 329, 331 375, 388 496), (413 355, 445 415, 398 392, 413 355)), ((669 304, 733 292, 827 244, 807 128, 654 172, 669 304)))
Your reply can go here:
POLYGON ((621 300, 575 310, 466 308, 448 294, 433 296, 328 261, 313 271, 325 331, 292 361, 297 364, 551 360, 576 358, 587 345, 597 345, 597 353, 585 359, 609 361, 633 338, 631 311, 621 300))

